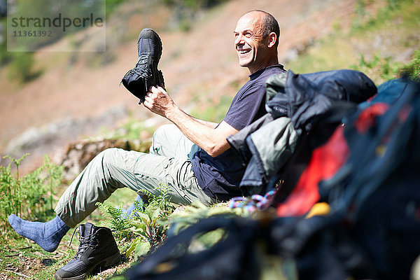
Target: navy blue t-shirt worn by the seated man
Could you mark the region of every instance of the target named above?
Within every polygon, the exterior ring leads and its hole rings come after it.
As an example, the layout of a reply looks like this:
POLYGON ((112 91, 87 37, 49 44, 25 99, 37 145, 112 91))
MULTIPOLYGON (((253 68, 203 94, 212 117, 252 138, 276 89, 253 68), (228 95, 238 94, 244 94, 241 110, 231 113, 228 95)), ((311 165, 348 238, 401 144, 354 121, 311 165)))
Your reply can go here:
MULTIPOLYGON (((248 82, 235 95, 223 120, 241 130, 264 116, 267 113, 265 81, 269 76, 282 72, 285 72, 283 65, 278 64, 251 74, 248 82)), ((225 201, 242 195, 239 183, 246 167, 231 148, 214 158, 200 149, 191 162, 197 183, 210 197, 225 201)))

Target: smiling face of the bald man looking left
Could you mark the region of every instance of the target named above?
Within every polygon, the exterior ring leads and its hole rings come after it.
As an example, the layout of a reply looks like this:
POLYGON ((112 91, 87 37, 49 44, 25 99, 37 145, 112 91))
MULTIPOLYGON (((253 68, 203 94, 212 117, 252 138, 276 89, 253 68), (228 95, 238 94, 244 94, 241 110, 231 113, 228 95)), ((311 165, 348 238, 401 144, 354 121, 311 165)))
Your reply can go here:
POLYGON ((269 36, 263 37, 262 33, 263 19, 263 13, 246 13, 238 20, 234 31, 239 65, 247 67, 251 74, 269 66, 273 59, 269 36))

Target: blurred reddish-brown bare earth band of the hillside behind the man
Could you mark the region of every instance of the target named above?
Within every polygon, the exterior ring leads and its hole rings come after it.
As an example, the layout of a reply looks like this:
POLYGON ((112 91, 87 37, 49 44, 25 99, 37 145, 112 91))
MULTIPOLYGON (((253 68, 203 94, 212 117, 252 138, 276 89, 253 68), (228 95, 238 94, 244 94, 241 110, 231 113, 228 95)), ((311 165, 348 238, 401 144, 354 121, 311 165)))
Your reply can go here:
MULTIPOLYGON (((186 108, 193 97, 200 94, 209 94, 214 100, 225 94, 235 94, 237 86, 246 80, 248 71, 237 65, 232 33, 237 19, 248 10, 267 10, 279 20, 279 59, 282 61, 290 48, 321 38, 332 31, 334 25, 348 27, 356 2, 232 0, 210 10, 188 32, 162 31, 164 49, 160 69, 169 94, 186 108)), ((158 21, 158 16, 150 17, 158 21)), ((136 20, 136 15, 120 20, 135 22, 128 25, 135 33, 146 27, 138 17, 136 20)), ((134 40, 118 45, 113 62, 97 68, 87 67, 83 62, 70 65, 64 59, 57 63, 54 53, 38 52, 37 65, 44 69, 40 78, 23 87, 9 85, 3 78, 0 84, 0 153, 10 153, 10 145, 13 146, 13 141, 18 141, 17 137, 23 132, 31 137, 30 127, 58 132, 51 135, 59 141, 43 141, 43 148, 34 155, 34 158, 40 158, 42 153, 52 153, 56 147, 64 147, 78 137, 97 133, 98 127, 118 125, 127 118, 127 112, 132 112, 138 119, 151 118, 143 106, 137 105, 137 99, 119 86, 124 73, 137 62, 136 43, 134 40), (60 125, 69 129, 59 130, 60 125), (85 129, 74 128, 77 125, 85 129)), ((6 70, 2 69, 0 73, 3 76, 6 70)), ((36 132, 32 132, 36 139, 36 132)))

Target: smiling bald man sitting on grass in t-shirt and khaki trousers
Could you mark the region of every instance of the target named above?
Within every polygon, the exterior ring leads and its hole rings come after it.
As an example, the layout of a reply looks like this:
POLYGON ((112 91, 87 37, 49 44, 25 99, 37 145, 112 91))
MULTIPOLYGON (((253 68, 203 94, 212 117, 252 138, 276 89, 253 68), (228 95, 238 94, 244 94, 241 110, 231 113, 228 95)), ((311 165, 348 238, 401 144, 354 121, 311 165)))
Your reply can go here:
POLYGON ((239 19, 234 33, 239 65, 251 75, 221 123, 189 116, 162 87, 151 87, 144 106, 174 123, 155 132, 151 153, 116 148, 99 153, 60 197, 52 221, 29 222, 10 215, 13 229, 45 251, 55 251, 66 232, 117 188, 156 194, 155 188, 162 184, 172 202, 179 204, 193 200, 211 204, 241 195, 238 186, 245 167, 226 138, 265 114, 265 80, 284 70, 277 59, 279 25, 272 15, 261 10, 248 12, 239 19))

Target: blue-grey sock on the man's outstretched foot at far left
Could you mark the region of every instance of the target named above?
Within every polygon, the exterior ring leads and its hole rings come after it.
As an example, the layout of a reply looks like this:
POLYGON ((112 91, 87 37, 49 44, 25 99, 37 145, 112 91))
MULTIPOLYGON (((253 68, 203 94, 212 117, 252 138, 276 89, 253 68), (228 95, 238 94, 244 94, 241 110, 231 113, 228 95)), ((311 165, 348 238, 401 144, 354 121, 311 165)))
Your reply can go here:
POLYGON ((15 232, 35 241, 48 252, 57 249, 59 242, 70 229, 59 216, 55 216, 47 223, 39 223, 25 221, 12 214, 8 217, 8 221, 15 232))

